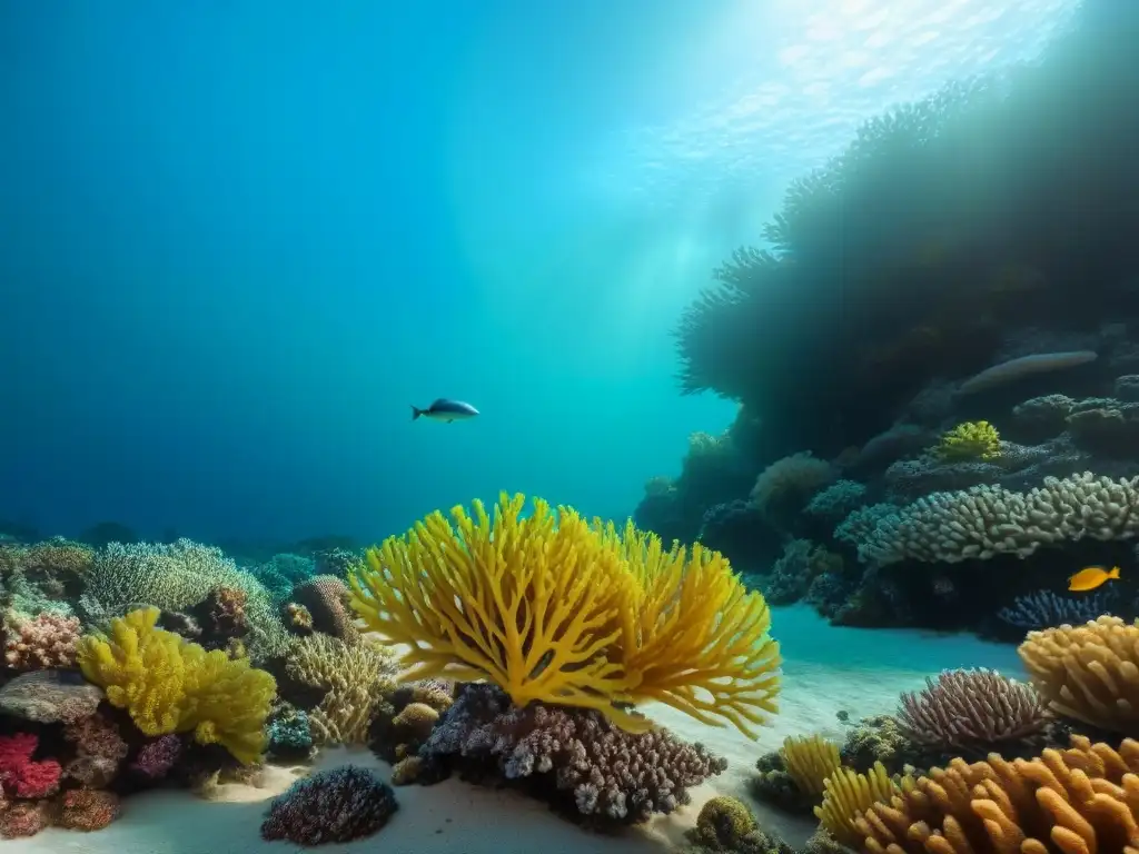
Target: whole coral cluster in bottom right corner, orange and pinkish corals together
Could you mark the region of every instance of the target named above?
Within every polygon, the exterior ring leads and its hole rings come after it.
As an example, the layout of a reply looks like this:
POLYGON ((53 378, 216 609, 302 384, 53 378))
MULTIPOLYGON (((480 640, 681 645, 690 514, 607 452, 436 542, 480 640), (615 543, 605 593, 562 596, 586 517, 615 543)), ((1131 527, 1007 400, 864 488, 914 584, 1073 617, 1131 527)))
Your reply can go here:
MULTIPOLYGON (((812 852, 1125 852, 1139 845, 1139 626, 1100 617, 1030 632, 1031 682, 947 671, 845 744, 788 738, 763 756, 753 794, 813 813, 812 852)), ((699 851, 786 848, 743 832, 699 851)), ((721 807, 727 810, 727 807, 721 807)), ((741 818, 743 816, 743 818, 741 818)))

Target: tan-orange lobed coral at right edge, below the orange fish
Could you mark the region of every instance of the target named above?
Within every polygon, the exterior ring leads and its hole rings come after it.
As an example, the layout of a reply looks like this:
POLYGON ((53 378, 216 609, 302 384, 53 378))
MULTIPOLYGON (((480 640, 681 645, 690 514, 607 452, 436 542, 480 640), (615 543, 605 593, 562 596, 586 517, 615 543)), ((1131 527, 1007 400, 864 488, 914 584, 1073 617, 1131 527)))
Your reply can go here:
POLYGON ((1139 726, 1139 625, 1101 616, 1029 632, 1017 654, 1057 715, 1109 732, 1139 726))

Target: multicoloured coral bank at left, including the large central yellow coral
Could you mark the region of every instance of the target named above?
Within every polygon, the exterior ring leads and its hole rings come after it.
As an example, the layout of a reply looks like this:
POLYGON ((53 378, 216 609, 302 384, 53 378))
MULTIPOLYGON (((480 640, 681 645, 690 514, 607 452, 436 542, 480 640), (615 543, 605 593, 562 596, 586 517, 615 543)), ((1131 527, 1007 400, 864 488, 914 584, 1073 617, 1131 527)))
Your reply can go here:
MULTIPOLYGON (((64 540, 0 545, 0 837, 96 830, 159 786, 208 794, 326 745, 396 786, 510 785, 615 828, 727 762, 637 709, 754 737, 776 712, 763 597, 719 553, 502 495, 328 564, 64 540), (399 657, 399 658, 398 658, 399 657)), ((265 839, 342 843, 398 810, 347 765, 274 798, 265 839)))

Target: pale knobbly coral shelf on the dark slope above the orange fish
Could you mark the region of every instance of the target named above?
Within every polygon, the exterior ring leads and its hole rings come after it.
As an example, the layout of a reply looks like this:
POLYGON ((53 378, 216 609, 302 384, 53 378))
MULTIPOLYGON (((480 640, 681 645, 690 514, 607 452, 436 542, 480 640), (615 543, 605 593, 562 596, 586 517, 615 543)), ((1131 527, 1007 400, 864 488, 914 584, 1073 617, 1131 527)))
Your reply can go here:
POLYGON ((1027 557, 1052 543, 1128 540, 1139 533, 1139 477, 1090 471, 1046 477, 1026 493, 975 486, 927 495, 882 517, 859 544, 871 566, 900 560, 958 563, 994 555, 1027 557))

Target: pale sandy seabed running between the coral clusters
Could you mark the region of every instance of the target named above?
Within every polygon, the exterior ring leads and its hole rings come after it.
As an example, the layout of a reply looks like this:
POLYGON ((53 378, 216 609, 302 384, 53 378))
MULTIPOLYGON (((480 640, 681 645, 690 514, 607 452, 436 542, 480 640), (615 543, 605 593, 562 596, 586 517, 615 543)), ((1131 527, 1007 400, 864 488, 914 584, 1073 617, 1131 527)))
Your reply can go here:
MULTIPOLYGON (((678 736, 702 741, 728 757, 728 771, 691 791, 693 804, 618 837, 588 834, 514 791, 481 789, 459 780, 395 790, 400 810, 377 835, 347 845, 303 848, 265 843, 260 827, 267 800, 296 779, 269 769, 261 788, 227 785, 216 797, 155 791, 124 802, 122 818, 105 830, 80 834, 49 829, 31 839, 8 840, 5 854, 662 854, 680 844, 700 806, 715 795, 752 805, 760 823, 792 845, 802 845, 814 822, 773 812, 747 794, 755 759, 787 736, 822 732, 842 740, 839 711, 857 720, 892 712, 898 695, 923 687, 928 675, 951 667, 991 667, 1023 678, 1013 647, 966 635, 912 631, 836 629, 803 607, 772 609, 772 634, 782 646, 784 688, 779 716, 757 742, 734 729, 715 729, 671 708, 646 712, 678 736)), ((367 750, 325 750, 317 769, 347 762, 391 769, 367 750)))

